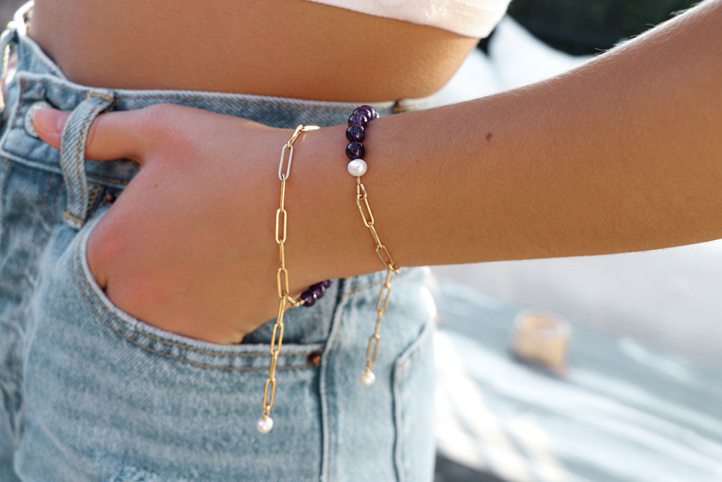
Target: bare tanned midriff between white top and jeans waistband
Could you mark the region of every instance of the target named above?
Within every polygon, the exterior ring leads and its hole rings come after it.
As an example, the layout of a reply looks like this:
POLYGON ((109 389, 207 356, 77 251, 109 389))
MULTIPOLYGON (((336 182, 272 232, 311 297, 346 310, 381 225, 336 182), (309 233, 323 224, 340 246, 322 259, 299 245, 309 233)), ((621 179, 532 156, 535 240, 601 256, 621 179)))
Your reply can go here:
POLYGON ((30 35, 83 85, 351 102, 431 95, 477 44, 302 0, 38 0, 30 35))

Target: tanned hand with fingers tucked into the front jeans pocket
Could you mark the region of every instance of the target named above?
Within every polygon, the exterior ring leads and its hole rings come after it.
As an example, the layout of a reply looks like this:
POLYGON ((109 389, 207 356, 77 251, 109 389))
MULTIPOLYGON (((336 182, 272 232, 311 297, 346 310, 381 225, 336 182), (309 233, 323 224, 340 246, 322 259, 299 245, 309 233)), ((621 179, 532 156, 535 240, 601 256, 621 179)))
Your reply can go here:
MULTIPOLYGON (((68 117, 39 109, 33 124, 59 149, 68 117)), ((88 264, 108 298, 144 322, 214 343, 238 343, 274 317, 277 159, 289 137, 183 106, 98 116, 86 157, 140 165, 88 241, 88 264)), ((318 281, 287 263, 291 290, 318 281)))

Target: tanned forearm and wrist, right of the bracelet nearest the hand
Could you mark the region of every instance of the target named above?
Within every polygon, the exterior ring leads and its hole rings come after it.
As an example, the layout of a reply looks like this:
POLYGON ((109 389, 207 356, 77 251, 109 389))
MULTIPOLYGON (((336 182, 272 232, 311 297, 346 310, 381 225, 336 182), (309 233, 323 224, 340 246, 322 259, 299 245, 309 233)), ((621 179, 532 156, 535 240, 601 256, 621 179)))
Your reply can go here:
MULTIPOLYGON (((373 121, 363 177, 401 265, 655 249, 722 234, 722 3, 560 77, 373 121)), ((344 127, 305 140, 297 193, 333 275, 380 267, 344 127), (304 208, 306 209, 306 208, 304 208), (328 236, 327 233, 333 233, 328 236)))

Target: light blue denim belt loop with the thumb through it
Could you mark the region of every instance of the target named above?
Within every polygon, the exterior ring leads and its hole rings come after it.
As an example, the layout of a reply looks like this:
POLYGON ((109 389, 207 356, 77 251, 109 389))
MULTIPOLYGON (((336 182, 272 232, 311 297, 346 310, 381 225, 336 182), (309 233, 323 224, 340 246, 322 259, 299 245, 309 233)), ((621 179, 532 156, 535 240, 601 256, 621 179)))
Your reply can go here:
POLYGON ((68 191, 65 222, 74 229, 82 228, 87 219, 88 184, 85 174, 85 143, 90 124, 113 103, 113 94, 88 93, 71 113, 65 124, 61 142, 60 162, 68 191))

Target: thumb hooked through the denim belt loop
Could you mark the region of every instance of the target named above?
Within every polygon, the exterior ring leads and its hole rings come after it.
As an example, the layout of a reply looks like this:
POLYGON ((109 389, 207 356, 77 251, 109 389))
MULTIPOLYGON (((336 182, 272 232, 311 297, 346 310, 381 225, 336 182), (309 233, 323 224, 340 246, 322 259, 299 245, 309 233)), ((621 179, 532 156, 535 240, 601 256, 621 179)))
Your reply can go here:
MULTIPOLYGON (((140 161, 139 139, 134 129, 135 111, 103 113, 97 116, 88 131, 85 158, 113 160, 128 158, 140 161)), ((40 139, 56 149, 61 148, 63 130, 70 112, 43 107, 32 115, 32 126, 40 139)))

